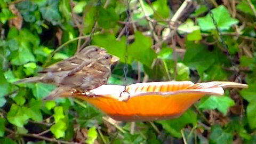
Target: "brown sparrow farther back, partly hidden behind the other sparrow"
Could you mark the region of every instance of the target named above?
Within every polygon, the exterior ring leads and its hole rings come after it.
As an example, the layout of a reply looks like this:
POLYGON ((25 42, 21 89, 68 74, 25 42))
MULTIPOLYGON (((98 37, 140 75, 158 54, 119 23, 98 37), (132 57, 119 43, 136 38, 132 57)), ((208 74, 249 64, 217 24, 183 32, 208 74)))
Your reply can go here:
POLYGON ((84 66, 86 67, 90 65, 95 59, 98 59, 101 54, 105 53, 106 50, 101 49, 98 46, 87 46, 84 49, 79 50, 73 57, 62 60, 38 71, 38 76, 23 78, 13 84, 42 82, 59 86, 63 77, 72 75, 84 66))

